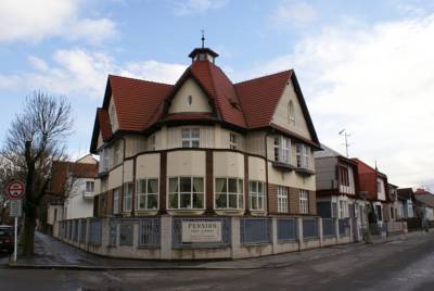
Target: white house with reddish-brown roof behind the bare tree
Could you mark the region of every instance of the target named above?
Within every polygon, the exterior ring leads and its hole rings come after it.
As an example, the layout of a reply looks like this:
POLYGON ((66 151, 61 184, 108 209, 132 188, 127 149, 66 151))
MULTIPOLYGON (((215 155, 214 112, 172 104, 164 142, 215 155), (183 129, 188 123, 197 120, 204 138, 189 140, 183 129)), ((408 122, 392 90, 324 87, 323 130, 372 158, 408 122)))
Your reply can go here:
POLYGON ((99 191, 98 161, 86 155, 76 162, 54 162, 51 191, 62 197, 52 203, 50 224, 61 219, 93 216, 93 197, 99 191))

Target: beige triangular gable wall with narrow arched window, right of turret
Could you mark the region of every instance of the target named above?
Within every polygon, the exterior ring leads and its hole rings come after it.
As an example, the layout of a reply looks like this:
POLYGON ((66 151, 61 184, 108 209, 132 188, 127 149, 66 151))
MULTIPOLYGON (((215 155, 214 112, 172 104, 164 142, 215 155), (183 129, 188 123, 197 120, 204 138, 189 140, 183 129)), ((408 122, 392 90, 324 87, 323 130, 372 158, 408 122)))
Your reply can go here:
POLYGON ((271 123, 286 128, 308 140, 312 140, 299 99, 292 81, 289 81, 276 106, 271 123), (290 110, 290 102, 292 103, 290 110), (292 114, 290 114, 290 111, 292 114))

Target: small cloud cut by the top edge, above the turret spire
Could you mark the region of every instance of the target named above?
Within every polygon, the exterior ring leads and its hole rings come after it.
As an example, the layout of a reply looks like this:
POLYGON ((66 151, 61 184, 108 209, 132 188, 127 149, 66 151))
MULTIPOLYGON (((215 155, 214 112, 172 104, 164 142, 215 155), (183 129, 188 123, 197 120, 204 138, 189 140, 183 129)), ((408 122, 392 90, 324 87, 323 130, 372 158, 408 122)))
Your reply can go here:
POLYGON ((201 14, 226 5, 226 0, 171 0, 169 1, 175 15, 183 16, 201 14))

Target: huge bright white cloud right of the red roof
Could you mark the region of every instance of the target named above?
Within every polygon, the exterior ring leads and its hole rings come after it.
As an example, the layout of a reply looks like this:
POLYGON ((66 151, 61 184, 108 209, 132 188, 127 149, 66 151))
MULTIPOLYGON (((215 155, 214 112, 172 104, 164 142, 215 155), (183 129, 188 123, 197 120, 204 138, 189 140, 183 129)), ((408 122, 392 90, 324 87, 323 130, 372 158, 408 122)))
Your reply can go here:
POLYGON ((244 76, 294 67, 322 142, 343 151, 337 131, 346 128, 350 155, 416 186, 433 179, 433 36, 434 15, 341 24, 244 76))

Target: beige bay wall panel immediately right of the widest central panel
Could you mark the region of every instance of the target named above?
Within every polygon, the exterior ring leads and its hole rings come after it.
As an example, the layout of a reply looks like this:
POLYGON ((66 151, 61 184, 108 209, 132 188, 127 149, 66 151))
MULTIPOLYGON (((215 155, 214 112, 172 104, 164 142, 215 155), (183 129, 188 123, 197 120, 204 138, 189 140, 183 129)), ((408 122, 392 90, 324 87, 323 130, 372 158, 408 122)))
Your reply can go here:
POLYGON ((237 152, 214 152, 214 176, 244 179, 244 155, 237 152))

